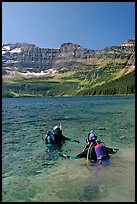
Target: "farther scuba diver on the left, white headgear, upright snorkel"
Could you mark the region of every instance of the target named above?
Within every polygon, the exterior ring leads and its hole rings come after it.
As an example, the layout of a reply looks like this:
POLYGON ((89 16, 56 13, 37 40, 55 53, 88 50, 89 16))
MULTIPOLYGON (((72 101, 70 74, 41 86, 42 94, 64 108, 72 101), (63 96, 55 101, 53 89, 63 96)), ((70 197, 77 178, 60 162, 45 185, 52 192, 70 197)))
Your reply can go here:
POLYGON ((60 127, 58 126, 55 126, 53 128, 53 132, 51 131, 48 131, 47 134, 46 134, 46 137, 44 139, 44 142, 49 145, 49 146, 52 146, 53 144, 57 144, 59 146, 62 146, 63 143, 65 143, 65 140, 69 140, 69 141, 72 141, 72 142, 78 142, 78 140, 73 140, 71 138, 68 138, 66 136, 64 136, 62 134, 62 130, 60 127))

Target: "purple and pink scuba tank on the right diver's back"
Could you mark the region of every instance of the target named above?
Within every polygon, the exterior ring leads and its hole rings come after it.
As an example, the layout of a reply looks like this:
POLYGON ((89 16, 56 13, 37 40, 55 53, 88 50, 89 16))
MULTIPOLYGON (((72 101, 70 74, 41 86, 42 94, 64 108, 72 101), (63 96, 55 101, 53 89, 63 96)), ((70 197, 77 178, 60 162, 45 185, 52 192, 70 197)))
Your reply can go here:
POLYGON ((94 149, 97 155, 97 159, 107 158, 107 151, 105 146, 102 143, 97 143, 94 146, 94 149))

